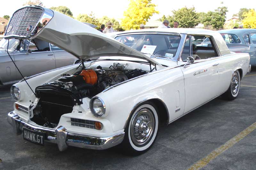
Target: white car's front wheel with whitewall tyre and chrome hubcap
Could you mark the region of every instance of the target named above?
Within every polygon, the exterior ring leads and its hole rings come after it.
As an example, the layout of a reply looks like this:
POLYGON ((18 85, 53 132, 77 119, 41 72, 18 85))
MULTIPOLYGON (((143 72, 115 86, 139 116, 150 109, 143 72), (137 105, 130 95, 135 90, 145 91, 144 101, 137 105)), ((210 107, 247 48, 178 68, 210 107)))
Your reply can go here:
POLYGON ((158 130, 158 114, 156 106, 147 102, 135 109, 125 128, 122 147, 126 153, 142 154, 154 144, 158 130))

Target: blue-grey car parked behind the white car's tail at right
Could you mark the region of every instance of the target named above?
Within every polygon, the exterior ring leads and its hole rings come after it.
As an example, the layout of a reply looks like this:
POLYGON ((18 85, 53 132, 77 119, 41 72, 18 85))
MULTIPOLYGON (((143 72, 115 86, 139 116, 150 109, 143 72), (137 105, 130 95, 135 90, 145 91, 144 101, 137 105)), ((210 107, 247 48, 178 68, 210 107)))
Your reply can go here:
MULTIPOLYGON (((248 45, 250 47, 247 50, 250 55, 250 64, 256 65, 256 29, 229 29, 218 32, 222 35, 227 45, 231 47, 229 48, 231 51, 232 48, 240 47, 243 49, 242 45, 248 45)), ((239 52, 239 50, 234 52, 239 52)))

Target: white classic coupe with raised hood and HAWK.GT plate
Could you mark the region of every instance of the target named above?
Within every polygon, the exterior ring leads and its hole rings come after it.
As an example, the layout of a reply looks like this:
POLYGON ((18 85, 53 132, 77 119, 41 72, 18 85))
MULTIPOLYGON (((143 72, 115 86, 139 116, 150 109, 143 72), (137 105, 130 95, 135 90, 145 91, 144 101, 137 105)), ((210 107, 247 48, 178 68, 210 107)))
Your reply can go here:
POLYGON ((36 144, 107 149, 133 154, 155 142, 169 124, 223 94, 237 97, 251 70, 248 54, 231 54, 220 33, 204 29, 148 29, 115 39, 40 6, 16 11, 5 39, 48 41, 82 62, 25 78, 11 87, 15 134, 36 144), (196 47, 194 36, 212 47, 196 47), (118 42, 119 41, 119 42, 118 42), (135 50, 136 49, 136 50, 135 50))

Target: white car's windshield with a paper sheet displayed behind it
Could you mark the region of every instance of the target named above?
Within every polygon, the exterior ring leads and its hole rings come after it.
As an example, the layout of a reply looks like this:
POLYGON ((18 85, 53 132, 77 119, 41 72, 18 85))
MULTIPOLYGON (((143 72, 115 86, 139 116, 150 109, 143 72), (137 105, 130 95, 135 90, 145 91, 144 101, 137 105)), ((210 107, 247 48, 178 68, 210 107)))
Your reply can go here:
POLYGON ((142 53, 174 57, 180 38, 179 35, 133 34, 118 36, 115 39, 142 53))

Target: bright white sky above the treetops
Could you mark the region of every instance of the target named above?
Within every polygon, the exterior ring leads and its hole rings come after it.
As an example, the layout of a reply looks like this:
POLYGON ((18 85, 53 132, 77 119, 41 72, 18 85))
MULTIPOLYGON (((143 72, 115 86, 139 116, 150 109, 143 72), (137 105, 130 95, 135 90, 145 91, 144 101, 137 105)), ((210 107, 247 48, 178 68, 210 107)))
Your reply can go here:
MULTIPOLYGON (((0 17, 4 15, 12 16, 13 12, 22 7, 22 4, 27 0, 8 0, 1 3, 0 6, 0 17)), ((120 21, 123 17, 124 11, 129 5, 129 0, 41 0, 46 8, 52 6, 67 6, 73 16, 76 17, 78 14, 90 14, 91 11, 97 18, 108 16, 109 18, 115 18, 120 21)), ((156 10, 159 14, 154 14, 150 20, 156 20, 161 18, 163 15, 172 15, 172 10, 178 10, 184 6, 195 7, 197 12, 214 11, 219 6, 227 6, 228 13, 227 19, 231 18, 234 13, 238 13, 240 8, 255 8, 256 1, 243 0, 152 0, 152 3, 156 4, 156 10), (223 4, 220 4, 223 2, 223 4)))

